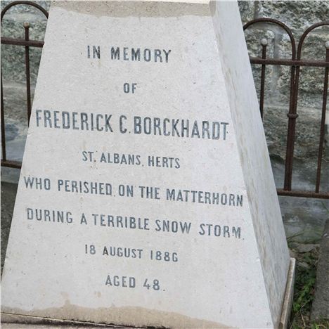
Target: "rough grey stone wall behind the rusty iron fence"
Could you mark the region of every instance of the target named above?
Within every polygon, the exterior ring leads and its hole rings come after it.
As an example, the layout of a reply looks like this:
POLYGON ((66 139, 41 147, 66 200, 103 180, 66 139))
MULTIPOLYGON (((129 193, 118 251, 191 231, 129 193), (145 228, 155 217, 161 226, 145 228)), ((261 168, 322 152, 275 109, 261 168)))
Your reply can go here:
MULTIPOLYGON (((1 1, 1 9, 11 2, 1 1)), ((37 1, 37 3, 49 10, 50 1, 37 1)), ((291 28, 296 42, 307 27, 329 19, 328 1, 238 1, 238 4, 243 24, 255 18, 275 18, 291 28)), ((43 39, 46 28, 44 14, 25 5, 15 6, 6 13, 1 35, 14 38, 24 37, 24 22, 30 22, 30 39, 43 39)), ((275 25, 264 23, 255 25, 247 30, 245 35, 251 56, 261 55, 260 40, 264 38, 268 42, 267 56, 272 58, 290 58, 291 56, 288 35, 275 25)), ((325 41, 329 41, 328 36, 328 27, 318 28, 311 32, 305 40, 302 58, 323 60, 325 41)), ((1 53, 7 153, 11 160, 21 160, 27 133, 25 52, 24 47, 21 46, 1 45, 1 53)), ((37 79, 40 56, 41 49, 30 49, 32 92, 37 79)), ((259 93, 259 65, 253 65, 253 73, 259 93)), ((302 67, 297 108, 299 117, 297 118, 295 171, 292 184, 294 188, 301 190, 314 188, 316 178, 323 79, 323 69, 302 67)), ((288 127, 290 67, 268 65, 265 86, 264 128, 276 183, 278 188, 282 188, 288 127)), ((326 191, 329 190, 326 183, 329 181, 328 153, 328 146, 325 146, 321 188, 326 191)), ((12 170, 9 172, 8 169, 3 168, 1 171, 4 173, 4 179, 7 177, 11 181, 17 180, 18 175, 12 170)), ((288 236, 297 234, 295 239, 306 240, 316 239, 321 235, 324 221, 328 217, 328 202, 303 198, 280 198, 280 205, 288 236)))

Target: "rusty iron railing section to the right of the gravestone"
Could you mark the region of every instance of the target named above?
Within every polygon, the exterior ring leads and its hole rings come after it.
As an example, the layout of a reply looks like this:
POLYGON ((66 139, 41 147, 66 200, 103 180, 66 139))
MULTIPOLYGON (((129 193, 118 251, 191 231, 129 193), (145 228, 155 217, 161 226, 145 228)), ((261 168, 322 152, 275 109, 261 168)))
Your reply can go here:
POLYGON ((261 86, 259 96, 259 108, 261 116, 264 114, 264 92, 265 92, 265 70, 266 65, 288 65, 290 69, 290 103, 288 116, 288 132, 287 132, 287 148, 285 152, 285 181, 283 189, 278 189, 278 195, 290 195, 300 196, 306 198, 325 198, 329 199, 329 193, 327 191, 320 192, 321 183, 321 167, 323 157, 323 146, 325 141, 325 110, 327 107, 327 96, 328 96, 328 72, 329 72, 329 41, 325 44, 325 60, 302 60, 302 46, 304 40, 309 34, 317 27, 329 26, 329 22, 318 22, 311 25, 299 39, 299 44, 296 51, 296 42, 290 28, 283 22, 273 20, 271 18, 258 18, 257 20, 251 20, 244 25, 243 30, 247 30, 248 27, 257 23, 271 23, 281 27, 289 36, 291 42, 291 59, 274 59, 266 58, 266 39, 262 39, 262 58, 250 58, 250 63, 262 65, 261 69, 261 86), (294 157, 295 147, 295 131, 296 131, 296 120, 297 114, 297 102, 298 102, 298 87, 299 87, 299 70, 302 66, 310 67, 323 67, 324 68, 324 83, 323 83, 323 100, 322 100, 322 112, 321 112, 321 124, 320 124, 320 138, 318 143, 318 164, 316 169, 316 183, 314 191, 293 191, 292 190, 292 162, 294 157))

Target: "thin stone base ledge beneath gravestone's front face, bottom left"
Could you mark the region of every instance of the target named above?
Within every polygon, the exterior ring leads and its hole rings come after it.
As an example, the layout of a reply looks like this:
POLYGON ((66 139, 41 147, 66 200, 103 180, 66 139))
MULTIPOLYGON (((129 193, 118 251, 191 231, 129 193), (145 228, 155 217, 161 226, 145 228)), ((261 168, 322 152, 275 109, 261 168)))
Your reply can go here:
POLYGON ((139 327, 127 327, 123 325, 110 325, 110 324, 101 324, 93 323, 86 321, 69 321, 62 320, 59 318, 44 318, 41 316, 28 316, 23 314, 10 314, 1 312, 1 323, 26 323, 26 324, 51 324, 51 325, 89 325, 85 328, 136 328, 139 327))

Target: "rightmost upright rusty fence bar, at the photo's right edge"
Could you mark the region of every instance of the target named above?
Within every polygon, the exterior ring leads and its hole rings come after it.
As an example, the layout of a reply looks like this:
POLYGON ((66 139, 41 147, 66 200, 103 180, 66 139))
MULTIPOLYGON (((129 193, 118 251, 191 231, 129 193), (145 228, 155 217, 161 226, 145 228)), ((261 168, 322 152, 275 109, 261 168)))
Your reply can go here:
MULTIPOLYGON (((325 43, 325 61, 329 62, 329 41, 325 43)), ((325 67, 325 78, 323 86, 323 101, 322 101, 322 115, 321 115, 321 126, 320 126, 320 141, 318 142, 318 168, 316 169, 316 193, 320 191, 321 181, 321 164, 323 154, 323 143, 325 136, 325 110, 327 108, 327 95, 328 95, 328 75, 329 67, 325 67)))

